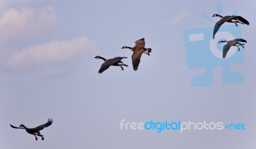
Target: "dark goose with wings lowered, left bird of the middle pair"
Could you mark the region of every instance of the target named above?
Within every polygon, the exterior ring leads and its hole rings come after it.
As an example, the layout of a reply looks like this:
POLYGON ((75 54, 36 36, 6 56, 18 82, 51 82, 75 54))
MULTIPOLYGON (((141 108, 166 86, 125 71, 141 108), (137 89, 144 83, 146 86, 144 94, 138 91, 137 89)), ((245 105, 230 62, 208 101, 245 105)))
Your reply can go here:
POLYGON ((120 66, 122 71, 124 71, 124 67, 122 66, 126 66, 128 67, 128 65, 124 64, 121 60, 122 59, 127 59, 127 57, 115 57, 113 59, 104 59, 103 57, 97 56, 94 57, 95 59, 103 59, 104 63, 101 65, 100 69, 99 69, 99 73, 103 73, 103 71, 105 71, 106 69, 108 69, 110 66, 120 66))

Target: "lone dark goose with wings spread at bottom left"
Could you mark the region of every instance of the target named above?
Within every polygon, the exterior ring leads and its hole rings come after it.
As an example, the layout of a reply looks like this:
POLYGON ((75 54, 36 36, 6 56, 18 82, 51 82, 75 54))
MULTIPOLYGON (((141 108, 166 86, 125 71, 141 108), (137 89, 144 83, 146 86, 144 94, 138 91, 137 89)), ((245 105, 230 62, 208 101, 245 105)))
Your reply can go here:
MULTIPOLYGON (((44 140, 44 137, 42 134, 40 134, 39 131, 43 130, 45 127, 48 127, 49 125, 51 125, 53 122, 52 119, 49 119, 48 118, 48 122, 43 124, 43 125, 39 125, 38 127, 35 127, 35 128, 27 128, 25 125, 21 124, 19 127, 15 127, 13 125, 11 125, 11 127, 15 128, 15 129, 25 129, 26 132, 28 132, 29 134, 33 134, 36 138, 36 136, 40 136, 42 138, 42 140, 44 140)), ((37 141, 37 138, 36 138, 36 141, 37 141)))

